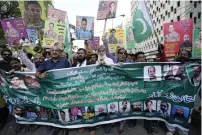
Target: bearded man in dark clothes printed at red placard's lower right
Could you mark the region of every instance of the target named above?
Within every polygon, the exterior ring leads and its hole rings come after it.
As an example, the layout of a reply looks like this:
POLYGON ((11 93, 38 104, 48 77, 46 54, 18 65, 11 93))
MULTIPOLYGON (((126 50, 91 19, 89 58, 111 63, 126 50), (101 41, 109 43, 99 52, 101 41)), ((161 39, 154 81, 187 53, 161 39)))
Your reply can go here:
POLYGON ((185 34, 184 35, 184 42, 180 44, 179 50, 185 49, 187 51, 192 51, 192 43, 189 40, 189 35, 185 34))

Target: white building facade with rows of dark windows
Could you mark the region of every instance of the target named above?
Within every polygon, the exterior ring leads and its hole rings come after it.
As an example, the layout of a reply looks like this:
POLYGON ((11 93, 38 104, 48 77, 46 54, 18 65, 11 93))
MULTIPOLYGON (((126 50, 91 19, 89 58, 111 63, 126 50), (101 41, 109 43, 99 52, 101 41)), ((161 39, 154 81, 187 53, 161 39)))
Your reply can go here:
MULTIPOLYGON (((183 19, 193 19, 194 28, 201 28, 201 1, 179 1, 179 0, 145 0, 149 15, 152 19, 154 29, 160 43, 164 43, 163 24, 183 19)), ((138 0, 131 0, 131 22, 135 10, 138 7, 138 0)), ((158 53, 157 37, 153 33, 145 41, 136 44, 133 53, 143 51, 147 58, 155 58, 158 53)))

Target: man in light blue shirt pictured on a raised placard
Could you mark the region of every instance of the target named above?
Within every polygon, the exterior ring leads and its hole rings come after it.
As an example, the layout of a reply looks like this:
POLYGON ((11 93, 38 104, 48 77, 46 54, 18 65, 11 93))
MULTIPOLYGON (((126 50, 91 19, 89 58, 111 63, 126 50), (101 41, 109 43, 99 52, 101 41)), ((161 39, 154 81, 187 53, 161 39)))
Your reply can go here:
POLYGON ((87 19, 82 18, 81 20, 81 27, 79 25, 79 22, 77 22, 77 30, 76 30, 76 37, 79 40, 88 40, 92 39, 92 34, 89 30, 86 29, 87 27, 87 19), (80 27, 80 28, 79 28, 80 27))

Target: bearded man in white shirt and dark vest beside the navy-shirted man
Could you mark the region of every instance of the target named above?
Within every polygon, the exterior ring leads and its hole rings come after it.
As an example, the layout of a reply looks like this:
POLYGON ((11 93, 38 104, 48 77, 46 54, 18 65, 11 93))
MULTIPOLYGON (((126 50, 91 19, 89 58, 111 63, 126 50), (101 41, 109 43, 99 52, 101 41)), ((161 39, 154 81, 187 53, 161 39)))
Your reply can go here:
POLYGON ((83 48, 79 48, 77 51, 77 63, 72 64, 72 67, 85 67, 91 65, 92 63, 86 59, 87 52, 83 48))

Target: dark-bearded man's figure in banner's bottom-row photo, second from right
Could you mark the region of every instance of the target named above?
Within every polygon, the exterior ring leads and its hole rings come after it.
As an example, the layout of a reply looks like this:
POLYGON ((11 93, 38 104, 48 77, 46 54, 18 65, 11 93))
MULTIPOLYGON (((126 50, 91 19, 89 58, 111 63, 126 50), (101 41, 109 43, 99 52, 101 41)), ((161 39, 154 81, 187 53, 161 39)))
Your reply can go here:
POLYGON ((168 114, 169 104, 165 101, 161 101, 160 109, 158 112, 162 115, 165 119, 168 119, 170 115, 168 114))

